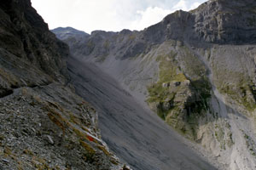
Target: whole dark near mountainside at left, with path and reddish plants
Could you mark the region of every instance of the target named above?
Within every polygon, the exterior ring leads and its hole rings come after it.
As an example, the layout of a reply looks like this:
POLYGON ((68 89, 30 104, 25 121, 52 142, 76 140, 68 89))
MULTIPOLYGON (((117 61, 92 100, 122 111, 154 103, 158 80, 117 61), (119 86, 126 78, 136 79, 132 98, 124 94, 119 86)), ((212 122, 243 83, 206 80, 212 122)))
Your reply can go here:
MULTIPOLYGON (((29 0, 0 3, 0 169, 122 169, 29 0)), ((124 168, 125 169, 125 168, 124 168)))

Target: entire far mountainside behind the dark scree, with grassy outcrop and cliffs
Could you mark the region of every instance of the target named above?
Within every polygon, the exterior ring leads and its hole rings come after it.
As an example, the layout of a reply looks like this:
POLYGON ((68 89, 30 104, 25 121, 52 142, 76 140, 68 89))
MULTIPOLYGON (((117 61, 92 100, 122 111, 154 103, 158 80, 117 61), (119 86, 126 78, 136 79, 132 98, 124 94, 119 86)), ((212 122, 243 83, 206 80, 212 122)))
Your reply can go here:
POLYGON ((61 39, 226 168, 254 169, 255 7, 211 0, 143 31, 61 39))

